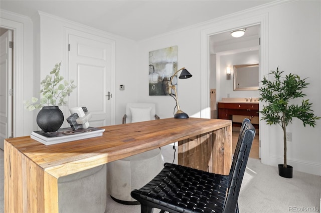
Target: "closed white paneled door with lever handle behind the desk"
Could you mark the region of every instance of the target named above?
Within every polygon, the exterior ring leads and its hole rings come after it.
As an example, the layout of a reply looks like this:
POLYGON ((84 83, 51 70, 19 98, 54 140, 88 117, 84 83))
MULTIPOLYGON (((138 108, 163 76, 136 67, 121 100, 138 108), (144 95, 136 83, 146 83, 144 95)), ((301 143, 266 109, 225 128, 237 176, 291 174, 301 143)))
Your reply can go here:
POLYGON ((69 34, 69 79, 77 88, 70 93, 69 107, 86 106, 93 115, 90 126, 112 125, 112 44, 69 34))

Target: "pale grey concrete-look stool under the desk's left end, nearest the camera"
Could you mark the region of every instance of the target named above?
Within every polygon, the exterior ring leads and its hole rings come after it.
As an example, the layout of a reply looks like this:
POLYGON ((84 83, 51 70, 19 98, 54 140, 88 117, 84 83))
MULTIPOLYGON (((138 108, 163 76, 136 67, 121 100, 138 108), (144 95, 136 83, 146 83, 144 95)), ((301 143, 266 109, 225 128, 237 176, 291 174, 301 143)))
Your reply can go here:
POLYGON ((106 164, 58 179, 59 212, 105 212, 106 164))

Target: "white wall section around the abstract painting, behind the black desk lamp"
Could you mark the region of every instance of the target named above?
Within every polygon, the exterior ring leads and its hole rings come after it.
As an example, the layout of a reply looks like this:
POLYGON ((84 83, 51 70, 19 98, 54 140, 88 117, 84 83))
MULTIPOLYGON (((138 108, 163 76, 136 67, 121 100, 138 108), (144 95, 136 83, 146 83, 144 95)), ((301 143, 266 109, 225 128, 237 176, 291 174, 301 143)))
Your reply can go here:
MULTIPOLYGON (((157 114, 161 118, 174 117, 175 100, 171 96, 148 95, 148 52, 165 47, 178 46, 178 69, 185 67, 193 76, 178 80, 178 97, 181 109, 189 116, 200 116, 200 31, 179 30, 139 42, 137 76, 140 79, 139 101, 156 103, 157 114)), ((180 73, 178 73, 180 74, 180 73)), ((177 109, 176 109, 177 110, 177 109)))

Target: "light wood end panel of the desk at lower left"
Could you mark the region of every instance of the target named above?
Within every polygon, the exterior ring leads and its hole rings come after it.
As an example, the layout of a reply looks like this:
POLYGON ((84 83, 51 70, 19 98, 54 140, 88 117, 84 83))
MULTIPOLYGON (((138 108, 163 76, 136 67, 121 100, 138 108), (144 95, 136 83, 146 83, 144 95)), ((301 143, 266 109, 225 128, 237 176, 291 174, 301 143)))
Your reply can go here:
POLYGON ((6 141, 5 212, 58 212, 58 180, 6 141))

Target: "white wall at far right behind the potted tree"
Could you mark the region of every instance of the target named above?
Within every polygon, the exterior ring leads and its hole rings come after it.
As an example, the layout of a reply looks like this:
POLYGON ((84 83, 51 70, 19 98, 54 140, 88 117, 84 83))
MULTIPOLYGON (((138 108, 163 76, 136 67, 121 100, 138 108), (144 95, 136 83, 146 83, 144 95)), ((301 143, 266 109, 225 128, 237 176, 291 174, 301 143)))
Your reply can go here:
MULTIPOLYGON (((295 1, 269 10, 269 68, 277 66, 285 73, 297 73, 310 83, 304 90, 315 114, 321 116, 321 1, 295 1)), ((287 131, 288 164, 294 169, 321 175, 321 120, 316 127, 303 127, 293 119, 287 131)), ((279 126, 270 127, 270 163, 282 160, 282 138, 279 126)))

